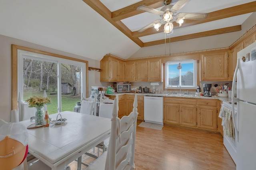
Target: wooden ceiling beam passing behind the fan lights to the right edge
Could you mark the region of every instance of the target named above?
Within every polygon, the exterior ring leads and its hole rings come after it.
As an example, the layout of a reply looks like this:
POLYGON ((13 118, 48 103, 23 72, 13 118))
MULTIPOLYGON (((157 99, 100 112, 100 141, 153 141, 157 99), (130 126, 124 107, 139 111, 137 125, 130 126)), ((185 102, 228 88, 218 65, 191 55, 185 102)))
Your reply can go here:
MULTIPOLYGON (((221 20, 224 18, 232 17, 232 16, 248 14, 250 12, 256 12, 256 1, 238 5, 238 6, 233 6, 230 8, 225 8, 225 9, 214 11, 214 12, 210 12, 208 14, 208 16, 206 17, 206 19, 204 19, 204 20, 184 20, 184 23, 182 24, 182 26, 180 28, 197 25, 200 23, 215 21, 215 20, 221 20)), ((179 28, 179 26, 176 22, 173 22, 173 25, 174 25, 174 29, 179 28)), ((141 33, 138 31, 132 32, 132 37, 138 38, 138 37, 143 37, 146 35, 152 35, 155 33, 164 32, 163 30, 164 30, 164 25, 161 25, 161 27, 159 28, 159 31, 156 31, 153 27, 151 27, 141 33)))

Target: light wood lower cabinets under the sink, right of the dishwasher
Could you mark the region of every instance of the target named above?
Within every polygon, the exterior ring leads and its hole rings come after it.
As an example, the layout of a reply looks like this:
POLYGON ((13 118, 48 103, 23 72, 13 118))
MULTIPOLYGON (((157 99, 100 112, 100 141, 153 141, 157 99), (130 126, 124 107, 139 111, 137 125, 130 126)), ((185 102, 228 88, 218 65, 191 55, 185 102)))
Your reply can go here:
POLYGON ((217 131, 218 100, 164 97, 164 124, 217 131))

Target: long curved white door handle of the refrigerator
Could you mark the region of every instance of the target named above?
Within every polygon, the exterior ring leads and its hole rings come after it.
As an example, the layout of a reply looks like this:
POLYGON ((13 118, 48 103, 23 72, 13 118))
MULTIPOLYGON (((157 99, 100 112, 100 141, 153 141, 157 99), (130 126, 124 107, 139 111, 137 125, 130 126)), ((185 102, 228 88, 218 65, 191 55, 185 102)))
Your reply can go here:
MULTIPOLYGON (((236 78, 237 78, 237 72, 238 72, 238 69, 239 69, 239 64, 240 64, 240 59, 238 58, 237 59, 237 63, 236 63, 236 69, 235 69, 235 72, 234 72, 234 77, 233 77, 233 82, 232 82, 232 93, 231 93, 231 103, 232 103, 232 117, 234 117, 234 114, 235 114, 235 102, 238 102, 238 98, 236 97, 235 98, 235 82, 236 82, 236 78)), ((238 115, 236 115, 236 119, 238 119, 238 115)), ((236 125, 237 122, 236 120, 233 119, 233 124, 234 124, 234 129, 235 129, 235 135, 236 135, 236 141, 238 141, 238 127, 236 125)))

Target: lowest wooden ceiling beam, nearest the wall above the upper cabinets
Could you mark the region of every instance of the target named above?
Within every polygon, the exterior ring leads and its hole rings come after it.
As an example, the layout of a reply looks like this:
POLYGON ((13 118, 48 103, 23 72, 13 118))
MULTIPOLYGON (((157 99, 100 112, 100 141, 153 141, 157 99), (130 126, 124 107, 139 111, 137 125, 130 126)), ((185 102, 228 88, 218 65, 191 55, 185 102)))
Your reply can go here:
MULTIPOLYGON (((236 25, 232 27, 225 27, 225 28, 220 28, 220 29, 214 29, 211 31, 204 31, 200 33, 194 33, 194 34, 188 34, 188 35, 182 35, 178 37, 172 37, 169 39, 166 39, 166 43, 169 42, 176 42, 176 41, 183 41, 183 40, 188 40, 188 39, 194 39, 194 38, 200 38, 200 37, 208 37, 212 35, 219 35, 219 34, 224 34, 224 33, 232 33, 236 31, 241 31, 242 30, 242 25, 236 25)), ((157 41, 150 41, 147 43, 144 43, 144 47, 152 46, 152 45, 159 45, 159 44, 164 44, 165 39, 157 40, 157 41)))

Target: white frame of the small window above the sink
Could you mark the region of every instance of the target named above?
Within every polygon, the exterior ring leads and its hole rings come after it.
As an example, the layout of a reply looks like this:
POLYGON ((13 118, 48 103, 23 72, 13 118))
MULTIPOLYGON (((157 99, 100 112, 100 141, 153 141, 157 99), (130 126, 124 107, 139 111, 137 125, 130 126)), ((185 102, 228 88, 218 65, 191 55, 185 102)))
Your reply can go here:
MULTIPOLYGON (((169 64, 185 64, 185 63, 194 63, 194 72, 193 72, 193 76, 194 76, 194 84, 193 86, 181 86, 181 88, 183 89, 194 89, 197 86, 197 61, 196 60, 182 60, 182 61, 169 61, 165 64, 165 87, 167 89, 176 89, 177 86, 169 86, 168 82, 169 82, 169 74, 168 74, 168 65, 169 64)), ((181 77, 181 71, 182 69, 180 69, 180 77, 181 77)), ((180 79, 180 83, 181 84, 181 79, 180 79)))

